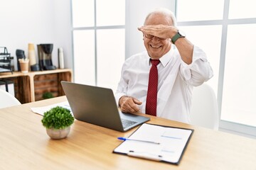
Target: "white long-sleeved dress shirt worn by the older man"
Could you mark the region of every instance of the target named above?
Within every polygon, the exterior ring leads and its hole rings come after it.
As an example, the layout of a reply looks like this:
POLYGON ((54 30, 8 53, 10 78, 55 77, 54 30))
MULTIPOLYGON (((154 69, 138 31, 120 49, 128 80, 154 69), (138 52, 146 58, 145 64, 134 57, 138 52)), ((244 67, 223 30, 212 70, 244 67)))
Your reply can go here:
MULTIPOLYGON (((142 101, 140 111, 145 113, 146 94, 149 84, 150 57, 142 52, 129 57, 123 64, 115 98, 117 104, 122 96, 132 96, 142 101)), ((205 52, 193 47, 193 61, 186 64, 174 45, 160 58, 157 65, 159 83, 156 116, 190 123, 193 86, 199 86, 213 77, 213 70, 205 52)))

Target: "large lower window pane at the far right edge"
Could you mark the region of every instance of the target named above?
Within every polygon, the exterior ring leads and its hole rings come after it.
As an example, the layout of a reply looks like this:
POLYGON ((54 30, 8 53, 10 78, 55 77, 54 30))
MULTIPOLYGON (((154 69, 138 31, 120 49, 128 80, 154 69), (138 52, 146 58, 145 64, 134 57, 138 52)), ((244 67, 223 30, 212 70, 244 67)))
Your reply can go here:
POLYGON ((221 118, 256 126, 255 24, 228 26, 221 118), (241 30, 249 36, 239 36, 241 30))

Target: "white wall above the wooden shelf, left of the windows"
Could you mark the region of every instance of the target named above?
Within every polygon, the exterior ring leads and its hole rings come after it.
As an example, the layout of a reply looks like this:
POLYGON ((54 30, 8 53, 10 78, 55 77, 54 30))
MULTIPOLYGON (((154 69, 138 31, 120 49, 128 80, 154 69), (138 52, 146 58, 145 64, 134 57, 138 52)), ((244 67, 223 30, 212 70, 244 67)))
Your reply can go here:
POLYGON ((72 68, 70 0, 0 0, 0 47, 7 47, 14 57, 28 43, 36 49, 41 43, 53 43, 53 64, 58 66, 58 47, 63 47, 65 67, 72 68))

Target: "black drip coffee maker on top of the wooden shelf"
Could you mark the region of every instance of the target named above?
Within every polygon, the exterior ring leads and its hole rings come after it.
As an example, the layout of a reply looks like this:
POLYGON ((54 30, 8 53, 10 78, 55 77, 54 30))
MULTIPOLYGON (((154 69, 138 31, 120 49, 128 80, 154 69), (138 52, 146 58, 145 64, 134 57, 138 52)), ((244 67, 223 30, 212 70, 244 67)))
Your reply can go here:
POLYGON ((40 44, 37 47, 41 71, 56 69, 52 61, 53 44, 40 44))

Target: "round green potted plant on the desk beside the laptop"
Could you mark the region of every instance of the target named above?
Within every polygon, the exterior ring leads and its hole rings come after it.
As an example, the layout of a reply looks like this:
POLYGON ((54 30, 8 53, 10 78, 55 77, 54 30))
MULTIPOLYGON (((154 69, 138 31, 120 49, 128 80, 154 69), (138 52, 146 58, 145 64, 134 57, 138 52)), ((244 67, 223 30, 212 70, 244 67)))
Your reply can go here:
POLYGON ((46 132, 53 140, 60 140, 68 136, 74 117, 68 108, 56 106, 43 113, 41 120, 46 132))

